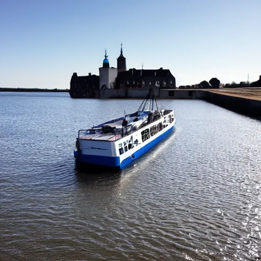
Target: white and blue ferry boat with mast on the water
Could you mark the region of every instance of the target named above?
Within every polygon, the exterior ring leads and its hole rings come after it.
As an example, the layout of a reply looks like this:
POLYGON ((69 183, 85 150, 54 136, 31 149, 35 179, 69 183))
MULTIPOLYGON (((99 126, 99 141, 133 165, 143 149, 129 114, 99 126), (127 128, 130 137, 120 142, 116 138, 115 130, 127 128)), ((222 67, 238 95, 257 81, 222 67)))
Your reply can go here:
POLYGON ((159 110, 149 90, 137 112, 79 130, 73 150, 76 164, 123 169, 166 138, 175 122, 174 111, 159 110))

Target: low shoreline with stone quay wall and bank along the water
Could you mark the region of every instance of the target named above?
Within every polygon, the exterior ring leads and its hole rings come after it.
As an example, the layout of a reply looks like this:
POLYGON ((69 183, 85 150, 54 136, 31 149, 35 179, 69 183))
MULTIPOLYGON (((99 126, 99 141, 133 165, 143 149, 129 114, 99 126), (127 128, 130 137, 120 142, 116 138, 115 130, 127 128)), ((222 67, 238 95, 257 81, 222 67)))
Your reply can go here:
MULTIPOLYGON (((147 89, 106 90, 94 99, 144 99, 147 89)), ((63 89, 0 88, 0 92, 69 92, 63 89)), ((90 99, 91 97, 75 97, 90 99)), ((233 112, 261 119, 261 87, 222 89, 161 89, 156 99, 201 99, 233 112)))

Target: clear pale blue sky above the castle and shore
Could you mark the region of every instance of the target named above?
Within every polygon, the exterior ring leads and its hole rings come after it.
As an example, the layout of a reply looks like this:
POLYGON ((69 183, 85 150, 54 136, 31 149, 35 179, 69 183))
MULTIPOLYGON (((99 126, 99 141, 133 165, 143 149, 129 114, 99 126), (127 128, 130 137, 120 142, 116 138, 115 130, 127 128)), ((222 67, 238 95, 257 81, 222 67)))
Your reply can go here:
POLYGON ((69 89, 123 44, 127 69, 176 84, 261 75, 261 0, 0 0, 0 87, 69 89))

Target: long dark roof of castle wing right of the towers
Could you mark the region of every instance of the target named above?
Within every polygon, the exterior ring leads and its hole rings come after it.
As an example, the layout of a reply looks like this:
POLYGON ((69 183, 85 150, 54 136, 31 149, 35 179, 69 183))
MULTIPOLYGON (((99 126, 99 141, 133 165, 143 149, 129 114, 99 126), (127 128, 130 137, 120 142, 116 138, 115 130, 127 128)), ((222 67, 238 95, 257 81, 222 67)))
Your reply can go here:
POLYGON ((143 76, 143 77, 153 77, 153 76, 168 76, 174 77, 169 69, 156 69, 156 70, 136 70, 129 69, 128 71, 121 71, 118 73, 118 77, 132 77, 132 76, 143 76))

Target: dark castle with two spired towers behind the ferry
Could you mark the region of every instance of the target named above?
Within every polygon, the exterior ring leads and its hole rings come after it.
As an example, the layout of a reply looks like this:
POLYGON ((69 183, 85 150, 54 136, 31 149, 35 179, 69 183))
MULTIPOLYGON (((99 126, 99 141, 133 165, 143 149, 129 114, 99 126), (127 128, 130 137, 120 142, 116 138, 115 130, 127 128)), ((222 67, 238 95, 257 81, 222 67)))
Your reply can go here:
POLYGON ((105 49, 105 59, 99 68, 99 76, 89 73, 87 76, 72 74, 70 96, 72 98, 100 98, 102 93, 115 89, 175 89, 175 77, 169 69, 126 69, 126 58, 122 53, 117 58, 117 68, 110 67, 105 49))

